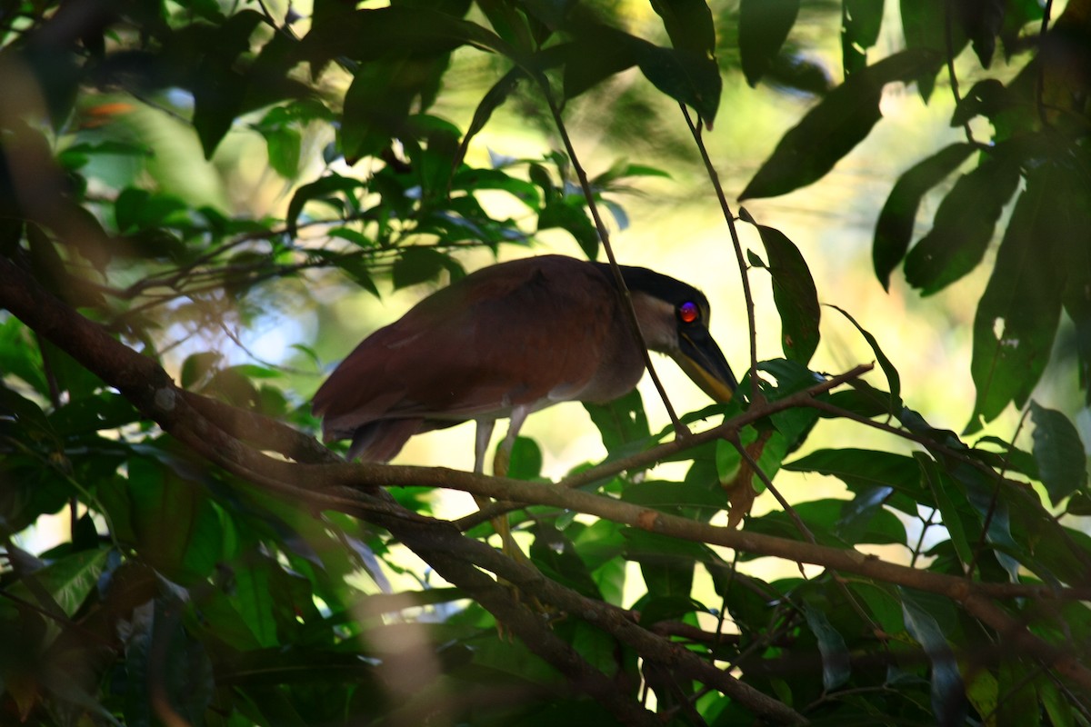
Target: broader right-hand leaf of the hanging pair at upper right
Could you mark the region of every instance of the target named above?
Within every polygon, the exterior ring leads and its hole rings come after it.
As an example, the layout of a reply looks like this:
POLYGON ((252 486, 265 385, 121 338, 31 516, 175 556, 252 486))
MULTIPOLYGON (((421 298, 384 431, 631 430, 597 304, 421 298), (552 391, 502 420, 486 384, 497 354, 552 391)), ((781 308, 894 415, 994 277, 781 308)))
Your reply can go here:
POLYGON ((943 290, 981 263, 1000 211, 1019 186, 1010 148, 984 156, 939 203, 932 230, 906 257, 906 280, 922 295, 943 290))

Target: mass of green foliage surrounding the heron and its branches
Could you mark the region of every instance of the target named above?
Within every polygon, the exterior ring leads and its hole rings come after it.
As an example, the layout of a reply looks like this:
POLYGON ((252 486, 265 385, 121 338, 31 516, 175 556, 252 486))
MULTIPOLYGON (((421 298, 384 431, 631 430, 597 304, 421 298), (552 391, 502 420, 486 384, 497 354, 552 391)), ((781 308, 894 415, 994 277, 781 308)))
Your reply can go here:
MULTIPOLYGON (((886 389, 854 381, 748 423, 738 447, 674 453, 688 462, 681 482, 634 468, 597 492, 708 522, 729 500, 747 509, 753 496, 738 494, 775 484, 782 468, 820 473, 843 483, 846 499, 748 517, 743 531, 840 549, 901 546, 922 573, 967 583, 1087 587, 1091 538, 1075 518, 1091 514, 1087 456, 1068 416, 1031 397, 1054 356, 1091 397, 1091 3, 902 0, 899 13, 887 12, 894 4, 741 0, 710 10, 654 0, 662 32, 645 38, 609 2, 315 0, 301 16, 268 2, 0 0, 0 258, 144 355, 163 360, 184 344, 192 353, 176 372, 184 389, 313 432, 284 369, 229 363, 200 350, 201 334, 237 336, 264 306, 309 296, 331 271, 377 295, 377 280, 455 279, 464 251, 527 246, 547 229, 571 233, 594 258, 600 237, 589 205, 624 220, 619 194, 667 173, 624 160, 589 180, 586 194, 561 152, 471 166, 469 145, 503 105, 536 104, 560 118, 633 68, 647 93, 705 124, 720 108, 724 74, 808 94, 813 106, 742 195, 762 197, 825 175, 882 122, 884 89, 913 83, 950 107, 966 141, 922 150, 890 180, 875 272, 889 284, 901 265, 927 295, 992 264, 973 328, 968 433, 1014 404, 1033 428, 1031 450, 932 427, 911 408, 896 362, 841 311, 874 350, 886 389), (831 84, 802 52, 793 35, 801 9, 840 34, 843 82, 831 84), (898 16, 903 47, 875 58, 883 23, 898 16), (979 68, 960 92, 954 59, 964 48, 979 68), (434 109, 465 53, 487 57, 494 75, 460 129, 434 109), (209 194, 195 167, 172 169, 187 155, 171 156, 147 133, 166 123, 183 124, 187 148, 218 163, 239 153, 224 148, 239 135, 261 140, 290 191, 286 213, 245 214, 209 194), (943 202, 914 242, 921 201, 936 189, 946 190, 943 202), (520 211, 490 211, 484 199, 496 194, 520 211), (1063 320, 1070 349, 1055 346, 1063 320), (846 443, 793 457, 828 419, 882 427, 915 451, 846 443)), ((820 308, 795 245, 772 227, 759 233, 764 251, 746 251, 747 260, 770 274, 784 359, 751 376, 776 402, 822 380, 806 367, 820 346, 820 308)), ((0 313, 0 722, 618 722, 527 644, 497 634, 480 604, 436 586, 427 565, 406 566, 385 530, 312 513, 211 465, 106 385, 92 353, 56 346, 63 337, 0 313), (71 520, 62 544, 20 547, 59 512, 71 520)), ((317 364, 305 348, 300 356, 317 364)), ((740 401, 683 419, 740 415, 757 403, 751 391, 748 376, 740 401)), ((608 460, 670 434, 648 429, 636 393, 588 409, 608 460)), ((537 446, 520 440, 512 473, 536 480, 540 467, 537 446)), ((392 494, 432 513, 421 488, 392 494)), ((736 573, 734 561, 767 554, 541 505, 525 512, 519 530, 542 573, 630 606, 639 628, 813 724, 1091 724, 1072 670, 1091 668, 1086 601, 994 604, 1060 654, 1048 661, 950 594, 832 571, 764 582, 736 573), (711 580, 716 603, 695 599, 698 575, 711 580)), ((662 724, 769 719, 579 615, 552 628, 662 724)))

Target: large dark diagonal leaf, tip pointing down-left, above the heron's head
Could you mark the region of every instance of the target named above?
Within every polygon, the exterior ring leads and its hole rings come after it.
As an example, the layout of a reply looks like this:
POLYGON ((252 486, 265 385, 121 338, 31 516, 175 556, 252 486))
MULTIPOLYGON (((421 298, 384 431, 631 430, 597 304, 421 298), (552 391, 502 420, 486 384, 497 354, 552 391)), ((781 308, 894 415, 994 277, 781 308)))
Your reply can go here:
POLYGON ((882 118, 886 84, 908 82, 940 62, 936 53, 904 50, 853 73, 784 134, 739 198, 775 197, 822 179, 882 118))

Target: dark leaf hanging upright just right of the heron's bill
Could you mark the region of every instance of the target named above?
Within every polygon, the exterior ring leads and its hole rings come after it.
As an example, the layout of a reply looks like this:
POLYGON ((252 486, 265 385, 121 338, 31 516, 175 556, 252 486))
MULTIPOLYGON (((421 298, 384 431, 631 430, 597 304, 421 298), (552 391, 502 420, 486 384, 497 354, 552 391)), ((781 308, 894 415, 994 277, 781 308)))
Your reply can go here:
POLYGON ((806 365, 818 348, 818 291, 807 263, 782 232, 757 226, 769 259, 772 300, 780 313, 780 346, 784 358, 806 365))

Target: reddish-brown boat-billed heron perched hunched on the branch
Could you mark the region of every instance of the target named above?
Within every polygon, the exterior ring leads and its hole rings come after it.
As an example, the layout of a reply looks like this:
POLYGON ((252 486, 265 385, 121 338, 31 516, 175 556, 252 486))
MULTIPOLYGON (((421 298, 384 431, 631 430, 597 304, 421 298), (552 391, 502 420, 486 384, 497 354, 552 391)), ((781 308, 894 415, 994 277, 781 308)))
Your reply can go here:
MULTIPOLYGON (((735 378, 708 331, 708 300, 652 270, 621 267, 648 348, 672 356, 717 401, 735 378)), ((415 434, 477 422, 475 471, 497 419, 511 426, 560 401, 606 402, 633 389, 644 354, 603 263, 548 255, 483 268, 443 288, 360 343, 314 395, 326 441, 386 462, 415 434)), ((501 471, 497 471, 501 470, 501 471)))

